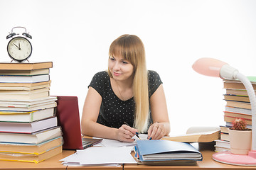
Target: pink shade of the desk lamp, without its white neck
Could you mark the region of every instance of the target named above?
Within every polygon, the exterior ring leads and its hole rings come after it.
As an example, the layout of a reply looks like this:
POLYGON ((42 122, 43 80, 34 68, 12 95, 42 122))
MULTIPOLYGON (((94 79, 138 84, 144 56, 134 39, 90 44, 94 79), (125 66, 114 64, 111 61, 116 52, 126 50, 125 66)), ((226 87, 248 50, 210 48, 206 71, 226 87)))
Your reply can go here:
POLYGON ((210 77, 220 77, 220 69, 227 63, 213 58, 201 58, 196 60, 192 68, 199 74, 210 77))

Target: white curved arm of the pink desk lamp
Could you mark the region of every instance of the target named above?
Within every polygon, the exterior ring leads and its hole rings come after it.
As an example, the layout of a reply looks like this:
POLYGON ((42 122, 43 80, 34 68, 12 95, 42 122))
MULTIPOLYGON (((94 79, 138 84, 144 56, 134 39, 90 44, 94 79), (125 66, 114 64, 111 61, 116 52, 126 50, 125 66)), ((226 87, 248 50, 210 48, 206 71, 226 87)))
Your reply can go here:
POLYGON ((250 99, 251 109, 252 109, 252 151, 256 151, 256 95, 255 90, 252 87, 251 82, 247 77, 245 77, 243 74, 236 75, 236 79, 239 79, 242 81, 242 84, 244 84, 245 89, 247 91, 247 94, 250 99))

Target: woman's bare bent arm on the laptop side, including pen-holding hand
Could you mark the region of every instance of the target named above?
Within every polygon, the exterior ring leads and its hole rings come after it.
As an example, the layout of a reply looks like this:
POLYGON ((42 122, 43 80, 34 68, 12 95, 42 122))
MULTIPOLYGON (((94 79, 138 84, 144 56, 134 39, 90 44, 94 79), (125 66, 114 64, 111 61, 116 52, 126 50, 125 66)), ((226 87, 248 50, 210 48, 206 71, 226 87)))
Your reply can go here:
POLYGON ((101 103, 102 97, 100 94, 92 87, 89 87, 82 111, 82 135, 133 142, 132 137, 137 132, 134 128, 122 125, 117 129, 97 123, 101 103))

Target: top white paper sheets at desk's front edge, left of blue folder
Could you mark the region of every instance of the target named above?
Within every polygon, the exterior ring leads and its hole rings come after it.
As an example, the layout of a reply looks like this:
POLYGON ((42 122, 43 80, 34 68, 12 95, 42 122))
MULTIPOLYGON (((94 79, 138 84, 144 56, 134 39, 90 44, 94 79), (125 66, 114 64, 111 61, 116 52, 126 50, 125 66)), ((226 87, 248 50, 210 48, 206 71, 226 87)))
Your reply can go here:
POLYGON ((120 166, 137 164, 131 155, 133 147, 89 147, 77 150, 60 161, 68 166, 120 166))

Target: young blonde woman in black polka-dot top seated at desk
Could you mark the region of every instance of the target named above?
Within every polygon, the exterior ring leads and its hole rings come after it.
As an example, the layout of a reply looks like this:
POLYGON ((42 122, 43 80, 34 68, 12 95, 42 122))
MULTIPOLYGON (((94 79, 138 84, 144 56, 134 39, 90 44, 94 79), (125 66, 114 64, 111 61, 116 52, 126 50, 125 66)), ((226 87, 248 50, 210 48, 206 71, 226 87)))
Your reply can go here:
POLYGON ((133 142, 147 132, 149 140, 169 135, 170 125, 162 81, 146 70, 145 50, 136 35, 112 42, 108 70, 89 85, 82 111, 82 134, 133 142))

